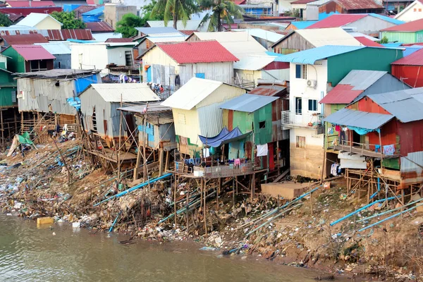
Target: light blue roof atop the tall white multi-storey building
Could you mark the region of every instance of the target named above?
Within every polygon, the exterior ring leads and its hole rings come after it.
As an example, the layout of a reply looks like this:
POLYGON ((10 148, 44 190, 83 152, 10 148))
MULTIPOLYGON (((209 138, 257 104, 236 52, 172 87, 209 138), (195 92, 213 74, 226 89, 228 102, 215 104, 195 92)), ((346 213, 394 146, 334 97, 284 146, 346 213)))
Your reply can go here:
POLYGON ((300 51, 285 56, 278 56, 275 61, 287 62, 287 63, 308 63, 314 64, 314 62, 336 56, 351 51, 366 48, 364 46, 331 46, 326 45, 305 51, 300 51))

